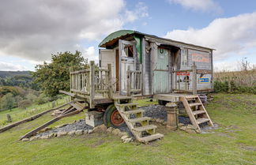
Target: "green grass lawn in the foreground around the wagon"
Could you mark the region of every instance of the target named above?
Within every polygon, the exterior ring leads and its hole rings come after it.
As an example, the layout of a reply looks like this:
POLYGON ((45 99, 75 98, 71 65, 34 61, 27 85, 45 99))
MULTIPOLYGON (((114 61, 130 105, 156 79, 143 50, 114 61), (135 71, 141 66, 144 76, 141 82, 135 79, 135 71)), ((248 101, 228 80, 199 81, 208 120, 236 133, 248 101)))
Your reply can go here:
MULTIPOLYGON (((151 144, 122 144, 119 137, 107 133, 17 141, 52 118, 45 114, 0 133, 0 164, 256 164, 256 96, 213 97, 206 107, 220 125, 213 133, 164 131, 164 139, 151 144)), ((145 106, 147 101, 138 103, 145 106)), ((81 113, 63 118, 53 126, 84 117, 81 113)))

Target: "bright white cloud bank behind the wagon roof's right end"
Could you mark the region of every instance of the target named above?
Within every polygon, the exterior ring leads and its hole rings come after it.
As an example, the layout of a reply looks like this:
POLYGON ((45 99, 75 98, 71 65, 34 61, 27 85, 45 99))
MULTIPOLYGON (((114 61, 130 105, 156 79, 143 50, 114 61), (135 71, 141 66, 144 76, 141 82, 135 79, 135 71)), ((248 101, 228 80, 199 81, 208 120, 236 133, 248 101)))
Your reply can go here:
POLYGON ((219 18, 201 29, 173 30, 165 36, 186 43, 213 47, 218 60, 238 56, 256 46, 256 13, 219 18))

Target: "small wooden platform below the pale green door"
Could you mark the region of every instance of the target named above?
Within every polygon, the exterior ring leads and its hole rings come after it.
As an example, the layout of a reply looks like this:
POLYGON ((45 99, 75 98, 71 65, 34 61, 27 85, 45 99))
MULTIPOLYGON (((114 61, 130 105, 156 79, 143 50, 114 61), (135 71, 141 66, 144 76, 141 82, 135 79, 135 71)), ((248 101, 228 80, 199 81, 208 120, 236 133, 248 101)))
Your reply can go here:
POLYGON ((168 94, 158 94, 154 95, 153 99, 164 100, 168 102, 179 102, 183 96, 193 96, 185 93, 168 93, 168 94))

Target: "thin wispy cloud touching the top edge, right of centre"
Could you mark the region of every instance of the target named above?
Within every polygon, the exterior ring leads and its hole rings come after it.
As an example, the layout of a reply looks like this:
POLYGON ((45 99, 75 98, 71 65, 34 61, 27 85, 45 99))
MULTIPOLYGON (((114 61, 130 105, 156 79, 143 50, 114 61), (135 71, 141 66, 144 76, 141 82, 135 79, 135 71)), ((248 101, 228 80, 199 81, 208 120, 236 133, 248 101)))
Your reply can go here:
POLYGON ((168 0, 171 4, 179 4, 186 9, 193 9, 202 12, 221 13, 221 7, 213 0, 168 0))

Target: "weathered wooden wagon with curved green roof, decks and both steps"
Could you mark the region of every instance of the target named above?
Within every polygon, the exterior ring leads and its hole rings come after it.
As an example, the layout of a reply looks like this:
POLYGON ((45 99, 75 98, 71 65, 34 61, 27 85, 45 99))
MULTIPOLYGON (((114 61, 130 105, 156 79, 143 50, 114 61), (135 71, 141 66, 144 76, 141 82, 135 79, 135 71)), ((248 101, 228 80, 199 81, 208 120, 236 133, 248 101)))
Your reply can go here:
POLYGON ((99 47, 100 67, 70 70, 70 92, 62 93, 104 111, 107 126, 126 123, 142 142, 164 137, 133 103, 143 97, 182 101, 194 126, 213 126, 197 96, 213 90, 213 49, 130 30, 111 33, 99 47))

